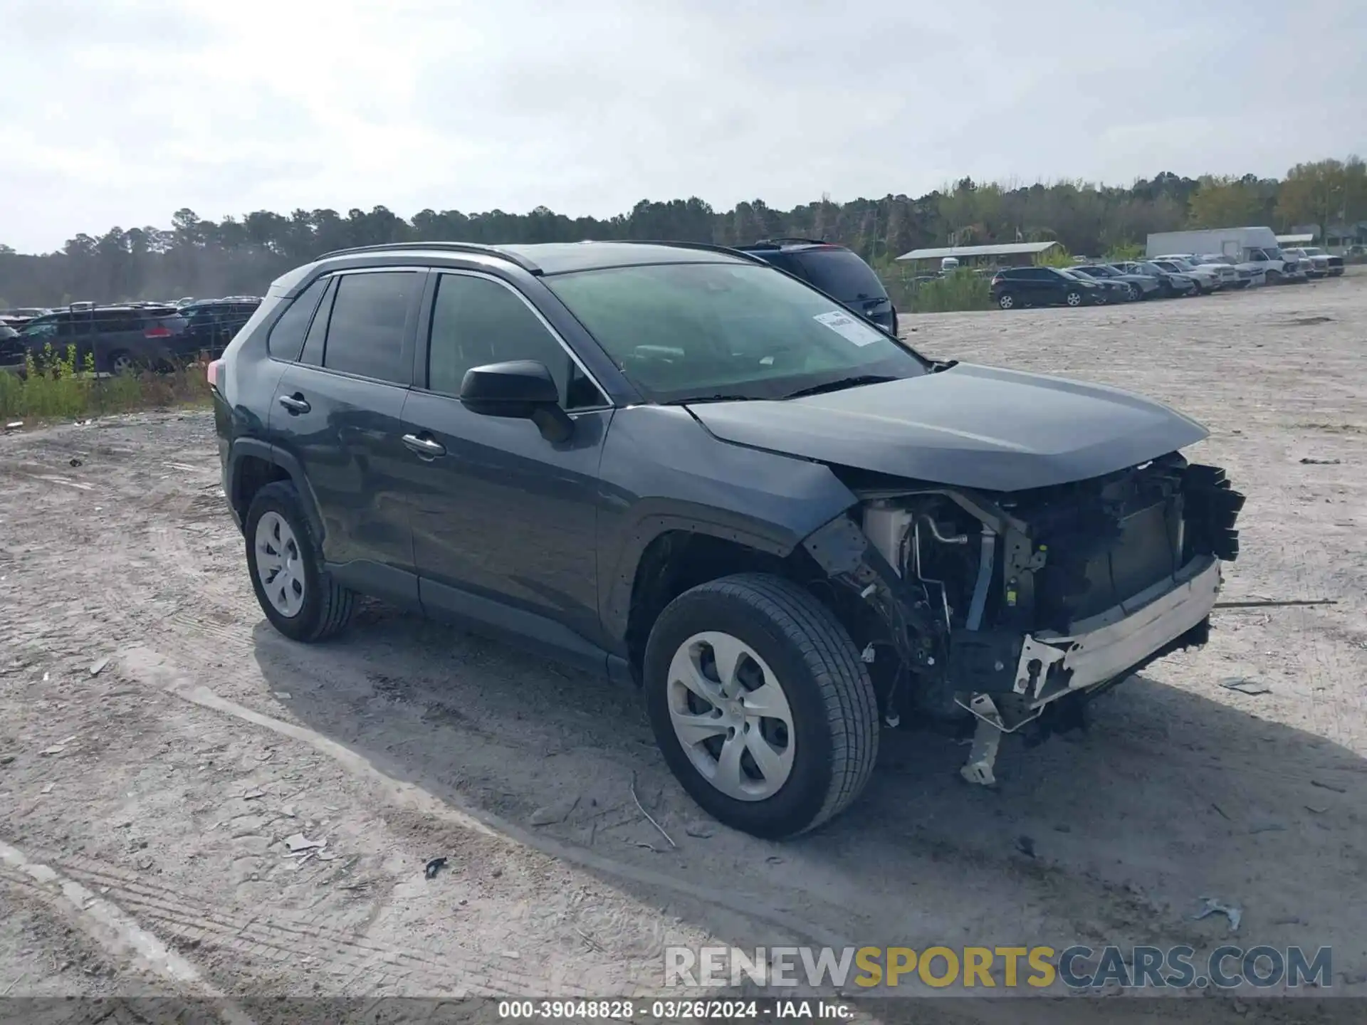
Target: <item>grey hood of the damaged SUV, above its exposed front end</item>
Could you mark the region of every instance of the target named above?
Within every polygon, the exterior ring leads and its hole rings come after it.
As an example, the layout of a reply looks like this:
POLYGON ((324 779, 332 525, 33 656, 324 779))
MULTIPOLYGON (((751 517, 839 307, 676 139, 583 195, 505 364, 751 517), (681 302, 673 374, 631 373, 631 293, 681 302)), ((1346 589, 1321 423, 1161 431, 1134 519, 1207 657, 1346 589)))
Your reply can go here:
POLYGON ((1100 477, 1210 433, 1118 388, 971 364, 786 402, 689 410, 723 441, 998 492, 1100 477))

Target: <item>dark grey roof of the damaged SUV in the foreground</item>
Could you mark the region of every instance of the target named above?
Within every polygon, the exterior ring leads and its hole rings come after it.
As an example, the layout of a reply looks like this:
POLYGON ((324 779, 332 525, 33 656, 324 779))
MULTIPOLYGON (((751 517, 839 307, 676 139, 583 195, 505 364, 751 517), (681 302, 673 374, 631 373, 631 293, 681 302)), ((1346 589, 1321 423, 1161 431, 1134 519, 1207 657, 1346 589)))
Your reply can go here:
POLYGON ((573 271, 600 271, 608 266, 644 266, 649 264, 755 264, 761 260, 726 246, 703 242, 539 242, 485 246, 473 242, 399 242, 383 246, 360 246, 324 253, 316 262, 355 256, 413 256, 424 261, 474 256, 495 257, 517 264, 536 275, 559 275, 573 271))

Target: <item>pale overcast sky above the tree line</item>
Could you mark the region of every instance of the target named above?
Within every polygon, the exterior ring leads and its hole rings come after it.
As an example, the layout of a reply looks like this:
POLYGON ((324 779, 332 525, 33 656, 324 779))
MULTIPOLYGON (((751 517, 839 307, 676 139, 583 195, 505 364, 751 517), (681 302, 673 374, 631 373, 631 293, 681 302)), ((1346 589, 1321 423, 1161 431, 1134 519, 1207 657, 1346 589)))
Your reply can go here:
POLYGON ((1364 0, 0 0, 0 242, 1367 152, 1364 0), (1033 12, 1036 16, 1027 16, 1033 12))

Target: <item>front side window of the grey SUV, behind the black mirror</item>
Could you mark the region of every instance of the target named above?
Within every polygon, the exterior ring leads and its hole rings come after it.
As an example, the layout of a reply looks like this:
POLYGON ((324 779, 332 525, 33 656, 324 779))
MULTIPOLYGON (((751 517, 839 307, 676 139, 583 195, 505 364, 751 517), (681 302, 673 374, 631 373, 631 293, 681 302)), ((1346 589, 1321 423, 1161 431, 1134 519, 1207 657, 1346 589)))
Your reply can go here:
POLYGON ((511 288, 487 277, 442 275, 432 308, 428 388, 459 395, 466 370, 511 359, 544 364, 566 409, 607 402, 511 288))

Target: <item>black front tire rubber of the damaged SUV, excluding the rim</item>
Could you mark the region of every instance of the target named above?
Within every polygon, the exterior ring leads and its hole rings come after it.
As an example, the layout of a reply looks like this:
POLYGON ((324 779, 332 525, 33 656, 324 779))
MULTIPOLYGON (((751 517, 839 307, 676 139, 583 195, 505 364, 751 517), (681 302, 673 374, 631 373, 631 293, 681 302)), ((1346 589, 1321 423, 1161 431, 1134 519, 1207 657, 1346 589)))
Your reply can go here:
POLYGON ((796 836, 845 810, 868 782, 878 757, 874 685, 835 615, 791 581, 737 574, 685 592, 651 630, 642 679, 664 761, 689 795, 731 828, 766 839, 796 836), (781 681, 791 709, 793 768, 782 787, 761 801, 716 790, 674 733, 670 663, 688 638, 708 630, 753 648, 781 681))

